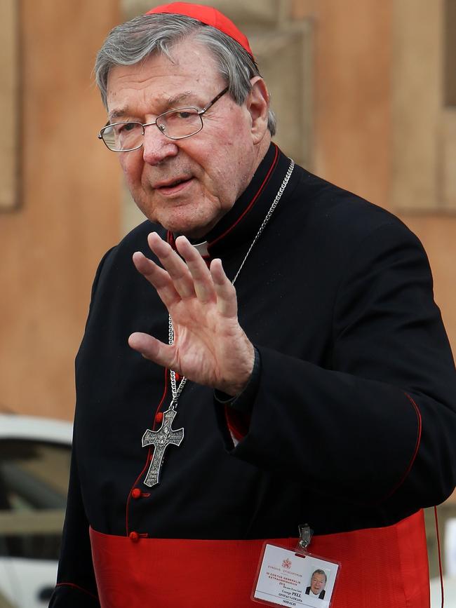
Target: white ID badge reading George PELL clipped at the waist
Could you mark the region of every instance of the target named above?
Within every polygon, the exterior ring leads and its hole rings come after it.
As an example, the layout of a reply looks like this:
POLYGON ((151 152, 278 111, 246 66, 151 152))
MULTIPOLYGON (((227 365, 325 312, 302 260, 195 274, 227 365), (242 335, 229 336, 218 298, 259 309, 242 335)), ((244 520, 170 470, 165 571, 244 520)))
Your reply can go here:
POLYGON ((304 527, 300 527, 301 539, 295 550, 264 543, 251 595, 254 602, 298 608, 330 607, 340 562, 309 553, 310 537, 307 543, 303 541, 302 529, 304 527))

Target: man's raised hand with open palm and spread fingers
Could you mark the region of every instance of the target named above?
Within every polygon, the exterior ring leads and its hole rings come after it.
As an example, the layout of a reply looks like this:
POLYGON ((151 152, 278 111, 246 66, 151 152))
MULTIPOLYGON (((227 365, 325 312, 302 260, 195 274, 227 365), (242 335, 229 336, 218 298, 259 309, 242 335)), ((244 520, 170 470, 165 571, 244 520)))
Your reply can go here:
POLYGON ((238 323, 236 290, 221 260, 213 259, 208 269, 185 236, 175 243, 183 259, 155 232, 147 241, 163 268, 140 252, 133 262, 168 309, 174 344, 140 332, 130 335, 128 344, 181 376, 238 395, 252 373, 255 351, 238 323))

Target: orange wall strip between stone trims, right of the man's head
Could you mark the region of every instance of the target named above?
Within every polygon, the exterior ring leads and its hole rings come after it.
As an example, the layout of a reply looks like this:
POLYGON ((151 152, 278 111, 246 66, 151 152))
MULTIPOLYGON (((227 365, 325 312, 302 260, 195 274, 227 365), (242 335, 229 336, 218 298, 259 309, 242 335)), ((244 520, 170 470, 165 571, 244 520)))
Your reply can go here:
POLYGON ((391 7, 294 0, 314 21, 314 170, 373 203, 389 201, 391 7))

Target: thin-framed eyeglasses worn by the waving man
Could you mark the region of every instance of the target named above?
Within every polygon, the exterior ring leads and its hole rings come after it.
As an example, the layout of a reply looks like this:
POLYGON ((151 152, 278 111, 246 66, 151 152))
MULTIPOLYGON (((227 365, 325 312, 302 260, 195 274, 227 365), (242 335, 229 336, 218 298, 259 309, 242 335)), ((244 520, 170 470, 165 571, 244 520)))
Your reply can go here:
POLYGON ((157 129, 170 140, 183 140, 199 133, 203 128, 203 114, 220 100, 228 87, 216 95, 203 109, 194 107, 176 108, 163 112, 156 117, 153 123, 138 123, 125 121, 123 123, 107 124, 98 133, 98 139, 103 140, 109 150, 113 152, 129 152, 137 150, 144 143, 145 128, 155 125, 157 129))

